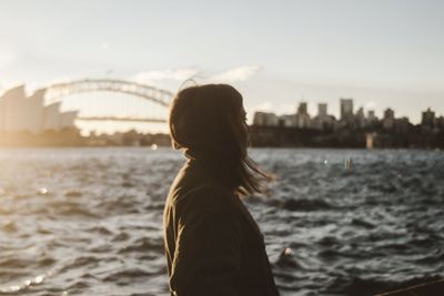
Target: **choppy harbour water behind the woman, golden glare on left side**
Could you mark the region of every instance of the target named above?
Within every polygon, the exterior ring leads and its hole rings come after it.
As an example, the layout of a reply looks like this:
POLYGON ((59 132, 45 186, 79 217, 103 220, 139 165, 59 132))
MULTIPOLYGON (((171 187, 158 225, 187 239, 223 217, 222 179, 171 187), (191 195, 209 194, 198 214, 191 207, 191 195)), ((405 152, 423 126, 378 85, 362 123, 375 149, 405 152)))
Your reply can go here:
MULTIPOLYGON (((245 203, 283 295, 444 275, 443 152, 252 154, 278 177, 245 203)), ((0 295, 168 295, 162 211, 182 163, 167 149, 0 150, 0 295)))

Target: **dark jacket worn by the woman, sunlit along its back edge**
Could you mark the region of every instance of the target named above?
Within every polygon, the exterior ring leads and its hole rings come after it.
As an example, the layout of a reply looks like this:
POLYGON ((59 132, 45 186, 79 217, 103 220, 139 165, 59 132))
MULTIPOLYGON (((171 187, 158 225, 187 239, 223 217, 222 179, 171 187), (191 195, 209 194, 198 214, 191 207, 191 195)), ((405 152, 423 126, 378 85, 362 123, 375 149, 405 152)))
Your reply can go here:
POLYGON ((164 210, 171 295, 276 296, 263 235, 242 201, 189 161, 164 210))

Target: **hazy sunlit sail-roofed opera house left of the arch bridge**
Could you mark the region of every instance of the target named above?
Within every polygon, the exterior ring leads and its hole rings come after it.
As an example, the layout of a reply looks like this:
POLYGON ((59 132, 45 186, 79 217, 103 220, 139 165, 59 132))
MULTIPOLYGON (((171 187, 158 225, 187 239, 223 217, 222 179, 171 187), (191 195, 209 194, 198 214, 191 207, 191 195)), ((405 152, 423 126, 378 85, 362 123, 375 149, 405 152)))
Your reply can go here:
POLYGON ((0 131, 41 133, 74 126, 77 112, 60 112, 60 102, 44 105, 44 90, 27 98, 24 85, 0 96, 0 131))

